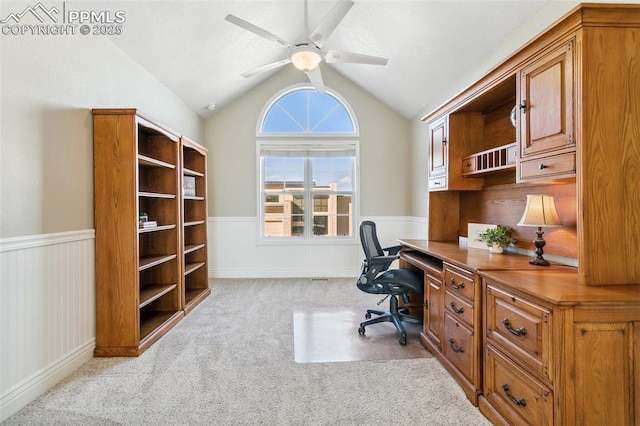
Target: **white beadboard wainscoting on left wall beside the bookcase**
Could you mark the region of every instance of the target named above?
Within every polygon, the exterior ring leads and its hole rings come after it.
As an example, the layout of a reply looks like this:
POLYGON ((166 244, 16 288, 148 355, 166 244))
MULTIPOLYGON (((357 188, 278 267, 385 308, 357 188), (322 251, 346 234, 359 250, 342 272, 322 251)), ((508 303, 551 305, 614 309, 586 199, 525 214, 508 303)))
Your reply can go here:
POLYGON ((0 239, 0 421, 93 357, 95 232, 0 239))

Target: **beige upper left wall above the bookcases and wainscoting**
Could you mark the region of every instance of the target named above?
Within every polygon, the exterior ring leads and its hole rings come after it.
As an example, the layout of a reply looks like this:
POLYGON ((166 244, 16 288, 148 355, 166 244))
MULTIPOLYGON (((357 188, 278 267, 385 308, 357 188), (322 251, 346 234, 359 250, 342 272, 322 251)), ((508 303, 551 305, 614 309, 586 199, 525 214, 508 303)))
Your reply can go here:
POLYGON ((91 108, 139 108, 204 139, 202 118, 103 37, 0 43, 0 238, 93 228, 91 108))

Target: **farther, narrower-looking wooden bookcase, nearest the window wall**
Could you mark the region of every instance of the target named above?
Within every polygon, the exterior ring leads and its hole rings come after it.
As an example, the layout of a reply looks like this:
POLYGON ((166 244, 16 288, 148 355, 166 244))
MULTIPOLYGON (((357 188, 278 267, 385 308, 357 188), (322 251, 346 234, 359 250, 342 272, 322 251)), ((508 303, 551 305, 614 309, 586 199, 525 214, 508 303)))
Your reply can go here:
POLYGON ((182 158, 182 270, 184 309, 189 312, 207 297, 207 150, 181 138, 182 158))

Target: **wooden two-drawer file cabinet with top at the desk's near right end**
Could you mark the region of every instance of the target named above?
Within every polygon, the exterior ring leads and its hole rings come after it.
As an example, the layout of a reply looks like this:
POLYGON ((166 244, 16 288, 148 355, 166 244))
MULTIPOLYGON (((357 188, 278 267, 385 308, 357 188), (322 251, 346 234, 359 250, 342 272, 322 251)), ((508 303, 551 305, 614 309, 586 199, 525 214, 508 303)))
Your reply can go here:
POLYGON ((495 424, 640 422, 640 286, 575 272, 487 271, 483 390, 495 424))

